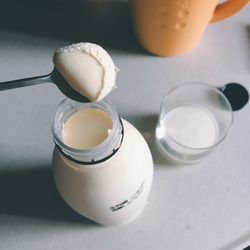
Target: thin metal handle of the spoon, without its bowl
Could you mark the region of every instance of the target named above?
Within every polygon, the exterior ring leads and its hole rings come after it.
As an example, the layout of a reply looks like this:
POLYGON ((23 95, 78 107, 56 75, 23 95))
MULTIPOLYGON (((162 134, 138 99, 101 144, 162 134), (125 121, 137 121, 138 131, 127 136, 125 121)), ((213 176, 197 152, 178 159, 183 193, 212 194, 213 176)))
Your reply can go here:
POLYGON ((0 91, 51 82, 51 74, 0 82, 0 91))

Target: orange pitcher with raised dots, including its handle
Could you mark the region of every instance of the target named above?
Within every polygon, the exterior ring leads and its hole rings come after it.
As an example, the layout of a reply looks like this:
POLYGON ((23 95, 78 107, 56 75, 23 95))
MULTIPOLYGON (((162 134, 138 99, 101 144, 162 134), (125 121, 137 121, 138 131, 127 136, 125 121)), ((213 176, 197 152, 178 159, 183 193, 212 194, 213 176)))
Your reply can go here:
POLYGON ((131 0, 139 42, 153 54, 175 56, 191 50, 207 25, 232 16, 249 0, 131 0))

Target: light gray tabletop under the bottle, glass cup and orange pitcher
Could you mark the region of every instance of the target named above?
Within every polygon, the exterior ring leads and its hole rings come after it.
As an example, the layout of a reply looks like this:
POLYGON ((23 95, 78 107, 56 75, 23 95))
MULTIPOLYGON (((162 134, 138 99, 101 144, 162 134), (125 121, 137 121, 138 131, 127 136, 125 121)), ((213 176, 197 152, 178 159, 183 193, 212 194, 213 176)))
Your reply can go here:
POLYGON ((74 8, 78 14, 84 9, 77 1, 70 6, 9 2, 0 10, 0 81, 49 72, 53 51, 63 44, 87 40, 104 45, 121 69, 118 89, 109 98, 147 139, 155 176, 149 203, 135 222, 105 228, 85 220, 60 199, 50 173, 51 118, 63 95, 49 84, 1 92, 0 249, 244 246, 250 240, 250 105, 235 113, 227 139, 197 165, 175 167, 164 161, 155 149, 154 127, 164 94, 178 84, 236 81, 250 89, 250 9, 210 25, 191 53, 159 58, 135 43, 126 3, 90 6, 83 1, 92 12, 82 20, 72 15, 74 8), (32 8, 35 13, 29 14, 32 8))

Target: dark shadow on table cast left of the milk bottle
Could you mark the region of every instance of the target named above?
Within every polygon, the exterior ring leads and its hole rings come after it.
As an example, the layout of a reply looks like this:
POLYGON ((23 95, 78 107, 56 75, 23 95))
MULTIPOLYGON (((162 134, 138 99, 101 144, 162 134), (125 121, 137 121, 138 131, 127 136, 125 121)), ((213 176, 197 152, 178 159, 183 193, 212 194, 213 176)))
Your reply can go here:
POLYGON ((0 172, 0 201, 0 214, 97 225, 74 212, 62 200, 50 167, 0 172))

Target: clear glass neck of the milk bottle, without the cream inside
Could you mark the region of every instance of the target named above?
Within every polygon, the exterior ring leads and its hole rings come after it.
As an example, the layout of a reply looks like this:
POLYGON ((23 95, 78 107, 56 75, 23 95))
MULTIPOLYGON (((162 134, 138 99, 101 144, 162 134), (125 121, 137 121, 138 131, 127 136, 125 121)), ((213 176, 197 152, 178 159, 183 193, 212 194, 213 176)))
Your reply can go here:
POLYGON ((112 157, 120 148, 123 140, 123 124, 110 101, 79 103, 70 99, 62 101, 54 115, 52 133, 59 151, 69 160, 83 165, 94 165, 112 157), (63 141, 63 129, 67 120, 82 109, 99 109, 112 119, 112 129, 107 138, 89 149, 69 147, 63 141))

